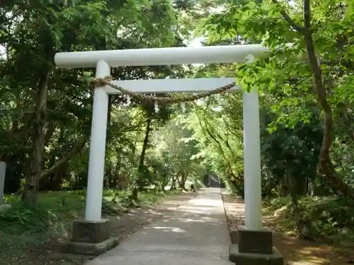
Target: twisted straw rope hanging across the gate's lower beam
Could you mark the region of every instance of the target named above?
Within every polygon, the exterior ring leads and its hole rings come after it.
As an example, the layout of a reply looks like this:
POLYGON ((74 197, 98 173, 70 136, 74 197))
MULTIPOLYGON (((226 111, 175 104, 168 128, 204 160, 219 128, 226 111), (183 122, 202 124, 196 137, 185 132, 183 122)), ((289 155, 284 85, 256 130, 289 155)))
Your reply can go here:
POLYGON ((113 83, 110 83, 110 81, 112 81, 112 76, 105 76, 105 78, 93 78, 92 83, 95 86, 110 86, 111 88, 115 88, 125 95, 130 95, 130 97, 135 98, 136 100, 139 100, 140 102, 149 101, 149 102, 152 102, 155 104, 157 103, 159 105, 171 105, 173 103, 181 103, 181 102, 199 100, 200 98, 206 98, 210 95, 224 93, 225 91, 230 90, 231 88, 233 88, 235 86, 235 83, 229 83, 226 86, 222 86, 220 88, 210 90, 209 92, 199 93, 199 94, 195 94, 195 95, 185 95, 180 98, 170 98, 170 97, 155 97, 152 95, 143 95, 140 93, 134 93, 134 92, 127 90, 125 88, 122 88, 120 86, 116 86, 113 83))

